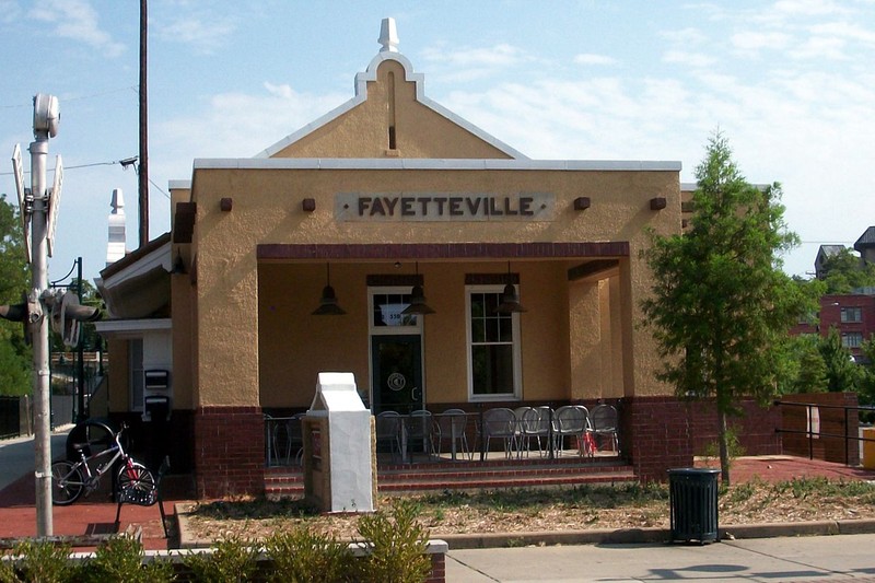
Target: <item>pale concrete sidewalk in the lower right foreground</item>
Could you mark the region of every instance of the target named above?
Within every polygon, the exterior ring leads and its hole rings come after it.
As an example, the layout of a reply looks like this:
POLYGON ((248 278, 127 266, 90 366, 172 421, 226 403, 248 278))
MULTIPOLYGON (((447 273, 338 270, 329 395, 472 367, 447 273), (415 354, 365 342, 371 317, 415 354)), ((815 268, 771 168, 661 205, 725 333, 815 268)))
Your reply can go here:
POLYGON ((446 557, 446 581, 875 582, 873 548, 875 535, 868 534, 731 540, 703 546, 648 544, 451 550, 446 557))

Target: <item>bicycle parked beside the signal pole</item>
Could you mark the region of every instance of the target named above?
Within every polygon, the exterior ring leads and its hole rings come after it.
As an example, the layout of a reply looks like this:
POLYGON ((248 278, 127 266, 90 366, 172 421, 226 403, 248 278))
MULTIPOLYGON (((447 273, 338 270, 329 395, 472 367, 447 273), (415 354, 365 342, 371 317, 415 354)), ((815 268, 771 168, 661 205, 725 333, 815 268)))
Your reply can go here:
POLYGON ((79 454, 80 459, 78 462, 65 459, 51 464, 52 504, 59 506, 72 504, 83 492, 88 497, 97 489, 101 478, 117 462, 121 462, 121 467, 116 474, 116 498, 121 492, 145 500, 153 499, 156 495, 158 486, 152 471, 136 462, 121 445, 121 434, 126 429, 126 425, 121 425, 121 429, 113 435, 113 445, 103 452, 89 455, 86 454, 90 451, 88 443, 75 443, 73 448, 79 454), (108 459, 97 462, 105 457, 108 457, 108 459), (94 469, 92 469, 92 466, 94 469))

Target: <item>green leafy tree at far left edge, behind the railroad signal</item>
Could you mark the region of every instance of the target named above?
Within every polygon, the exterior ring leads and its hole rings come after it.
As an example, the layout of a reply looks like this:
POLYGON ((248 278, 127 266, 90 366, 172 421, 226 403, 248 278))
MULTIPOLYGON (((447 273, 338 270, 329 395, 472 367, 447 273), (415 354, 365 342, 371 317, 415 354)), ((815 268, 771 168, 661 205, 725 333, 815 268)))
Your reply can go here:
MULTIPOLYGON (((0 195, 0 304, 18 304, 30 288, 19 210, 0 195)), ((21 323, 0 319, 0 395, 31 390, 32 352, 21 323)))

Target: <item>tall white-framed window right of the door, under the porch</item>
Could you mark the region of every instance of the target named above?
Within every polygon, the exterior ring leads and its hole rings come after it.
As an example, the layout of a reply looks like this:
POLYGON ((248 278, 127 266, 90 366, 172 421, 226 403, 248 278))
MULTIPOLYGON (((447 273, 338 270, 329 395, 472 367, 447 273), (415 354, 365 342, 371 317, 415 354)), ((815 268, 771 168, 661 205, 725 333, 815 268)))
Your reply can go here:
POLYGON ((468 398, 517 399, 521 395, 520 314, 499 314, 504 285, 466 285, 468 398))

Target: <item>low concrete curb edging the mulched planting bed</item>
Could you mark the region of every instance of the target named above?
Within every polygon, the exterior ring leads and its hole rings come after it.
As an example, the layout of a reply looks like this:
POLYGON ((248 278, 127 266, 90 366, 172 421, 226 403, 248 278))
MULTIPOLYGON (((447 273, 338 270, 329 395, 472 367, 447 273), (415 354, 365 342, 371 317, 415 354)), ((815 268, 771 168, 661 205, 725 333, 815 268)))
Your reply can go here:
MULTIPOLYGON (((191 503, 175 505, 179 526, 179 548, 202 548, 211 540, 196 539, 188 527, 191 503)), ((721 540, 738 538, 775 538, 790 536, 859 535, 875 533, 875 518, 850 521, 780 522, 738 524, 720 527, 721 540)), ((641 545, 669 544, 668 528, 590 528, 583 530, 545 530, 529 533, 441 534, 435 538, 446 541, 450 550, 490 549, 508 547, 545 547, 558 545, 641 545)))

